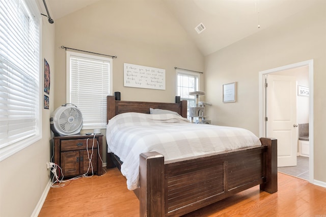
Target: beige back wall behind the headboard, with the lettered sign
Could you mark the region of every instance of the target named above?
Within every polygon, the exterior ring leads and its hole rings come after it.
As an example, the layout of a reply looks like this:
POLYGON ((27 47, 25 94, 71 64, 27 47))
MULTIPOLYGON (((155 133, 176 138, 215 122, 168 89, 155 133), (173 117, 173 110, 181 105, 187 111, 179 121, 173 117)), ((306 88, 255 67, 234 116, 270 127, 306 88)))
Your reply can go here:
MULTIPOLYGON (((100 1, 56 20, 55 107, 66 103, 66 52, 62 45, 117 56, 113 60, 113 92, 121 92, 121 100, 174 102, 174 67, 204 69, 204 57, 164 3, 100 1), (165 69, 166 90, 124 87, 124 63, 165 69)), ((102 133, 105 135, 104 129, 102 133)), ((105 148, 103 145, 103 153, 105 148)))

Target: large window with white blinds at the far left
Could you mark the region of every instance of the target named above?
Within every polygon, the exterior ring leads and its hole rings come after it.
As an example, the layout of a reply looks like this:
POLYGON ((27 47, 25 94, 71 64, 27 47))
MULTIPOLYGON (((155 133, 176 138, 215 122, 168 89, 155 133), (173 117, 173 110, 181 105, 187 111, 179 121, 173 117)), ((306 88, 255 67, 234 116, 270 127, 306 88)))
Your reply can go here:
POLYGON ((0 161, 42 137, 40 12, 0 1, 0 161))

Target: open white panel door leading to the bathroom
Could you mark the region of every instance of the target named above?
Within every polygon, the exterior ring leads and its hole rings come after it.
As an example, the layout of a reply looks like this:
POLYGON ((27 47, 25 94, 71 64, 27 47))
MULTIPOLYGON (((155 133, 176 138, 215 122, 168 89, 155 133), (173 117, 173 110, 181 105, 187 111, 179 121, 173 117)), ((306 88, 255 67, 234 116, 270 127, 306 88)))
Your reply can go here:
POLYGON ((296 77, 267 75, 267 137, 278 142, 278 167, 296 166, 296 77))

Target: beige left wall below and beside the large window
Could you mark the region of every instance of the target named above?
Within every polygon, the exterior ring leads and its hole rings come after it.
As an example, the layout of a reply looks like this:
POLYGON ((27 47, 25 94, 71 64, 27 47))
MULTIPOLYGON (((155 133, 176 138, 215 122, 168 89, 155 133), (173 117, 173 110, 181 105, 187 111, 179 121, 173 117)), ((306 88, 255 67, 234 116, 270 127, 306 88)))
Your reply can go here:
MULTIPOLYGON (((0 216, 31 216, 49 181, 46 162, 50 160, 49 118, 55 93, 54 37, 55 25, 42 18, 42 74, 45 58, 51 76, 50 109, 42 108, 42 139, 0 162, 0 216)), ((43 107, 43 101, 41 105, 43 107)))

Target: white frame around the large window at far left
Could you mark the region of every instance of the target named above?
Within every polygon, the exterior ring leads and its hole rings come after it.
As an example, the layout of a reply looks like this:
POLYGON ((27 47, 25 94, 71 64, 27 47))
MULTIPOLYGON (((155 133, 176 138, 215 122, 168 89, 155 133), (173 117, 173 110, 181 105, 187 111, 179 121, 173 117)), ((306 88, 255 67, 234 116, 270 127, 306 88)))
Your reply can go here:
MULTIPOLYGON (((29 135, 29 136, 24 136, 20 139, 16 139, 15 141, 11 141, 7 145, 0 147, 0 161, 3 161, 4 159, 12 156, 13 154, 21 151, 22 149, 36 143, 37 141, 42 139, 42 105, 43 105, 43 100, 42 100, 42 94, 43 94, 43 89, 42 89, 42 63, 43 61, 41 60, 41 51, 42 51, 42 18, 40 15, 39 8, 36 4, 35 1, 28 1, 28 0, 20 0, 19 2, 22 4, 31 14, 31 16, 34 17, 34 21, 36 22, 37 28, 38 28, 38 50, 35 52, 38 53, 38 67, 37 67, 37 78, 38 78, 38 87, 36 87, 38 91, 38 95, 36 98, 38 99, 35 103, 35 130, 34 133, 29 135)), ((15 13, 14 11, 10 13, 15 13)), ((20 14, 20 13, 16 13, 20 14)), ((7 15, 4 15, 7 16, 7 15)), ((16 26, 15 26, 16 27, 16 26)), ((16 30, 17 32, 21 31, 20 29, 16 30)), ((34 43, 34 42, 33 42, 34 43)), ((21 61, 19 59, 16 60, 16 64, 21 64, 21 61)), ((44 68, 44 67, 43 67, 44 68)))

